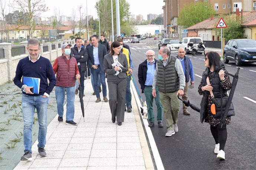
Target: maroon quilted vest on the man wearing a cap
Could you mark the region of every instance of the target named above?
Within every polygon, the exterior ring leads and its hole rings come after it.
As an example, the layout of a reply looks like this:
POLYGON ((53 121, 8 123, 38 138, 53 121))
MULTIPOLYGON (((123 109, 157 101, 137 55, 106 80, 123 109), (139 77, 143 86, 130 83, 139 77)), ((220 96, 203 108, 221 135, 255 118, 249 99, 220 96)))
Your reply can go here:
POLYGON ((67 58, 65 56, 57 57, 58 69, 57 69, 57 83, 56 86, 71 87, 75 86, 76 82, 76 59, 71 57, 69 59, 69 68, 67 58))

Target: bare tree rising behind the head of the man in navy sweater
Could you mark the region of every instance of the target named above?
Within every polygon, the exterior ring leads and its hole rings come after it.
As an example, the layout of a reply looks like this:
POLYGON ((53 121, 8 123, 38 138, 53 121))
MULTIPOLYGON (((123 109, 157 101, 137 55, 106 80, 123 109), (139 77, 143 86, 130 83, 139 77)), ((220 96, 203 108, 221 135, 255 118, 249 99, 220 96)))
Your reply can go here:
POLYGON ((42 12, 46 12, 45 0, 14 0, 12 7, 23 11, 26 18, 27 26, 29 27, 29 37, 33 37, 33 19, 39 16, 42 12))

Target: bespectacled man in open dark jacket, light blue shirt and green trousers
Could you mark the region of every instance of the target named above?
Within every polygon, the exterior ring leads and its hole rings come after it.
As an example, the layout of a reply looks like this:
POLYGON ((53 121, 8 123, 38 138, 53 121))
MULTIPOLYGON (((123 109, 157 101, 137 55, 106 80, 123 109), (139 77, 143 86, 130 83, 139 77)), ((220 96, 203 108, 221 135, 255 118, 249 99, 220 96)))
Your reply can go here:
MULTIPOLYGON (((147 110, 148 110, 148 127, 154 127, 155 116, 153 112, 153 99, 152 96, 152 84, 155 75, 155 67, 157 65, 157 60, 155 59, 155 52, 153 50, 148 50, 146 52, 147 59, 139 65, 138 78, 141 85, 142 93, 145 92, 147 110)), ((157 122, 158 127, 163 128, 163 107, 159 98, 158 88, 155 88, 157 97, 155 97, 155 104, 157 105, 157 122)))

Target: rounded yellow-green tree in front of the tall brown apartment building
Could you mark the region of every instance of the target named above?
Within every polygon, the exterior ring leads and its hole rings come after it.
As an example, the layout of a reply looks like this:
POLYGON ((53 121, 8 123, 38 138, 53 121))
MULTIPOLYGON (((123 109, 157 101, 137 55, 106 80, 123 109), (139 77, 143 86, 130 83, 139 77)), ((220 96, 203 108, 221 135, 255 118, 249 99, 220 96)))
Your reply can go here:
POLYGON ((212 5, 207 2, 185 4, 180 10, 178 25, 187 28, 210 18, 214 14, 212 5))

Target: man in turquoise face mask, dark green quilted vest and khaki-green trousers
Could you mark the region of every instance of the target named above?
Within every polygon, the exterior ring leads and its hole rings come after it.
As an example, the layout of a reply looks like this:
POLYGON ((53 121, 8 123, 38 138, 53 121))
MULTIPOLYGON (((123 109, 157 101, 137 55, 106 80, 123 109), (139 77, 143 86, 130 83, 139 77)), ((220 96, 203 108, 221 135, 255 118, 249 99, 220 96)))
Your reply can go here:
POLYGON ((152 95, 154 98, 157 97, 156 88, 158 87, 166 118, 167 133, 165 136, 171 136, 178 132, 180 101, 177 95, 184 94, 185 75, 180 60, 171 56, 171 50, 168 47, 160 48, 158 58, 152 84, 152 95))

